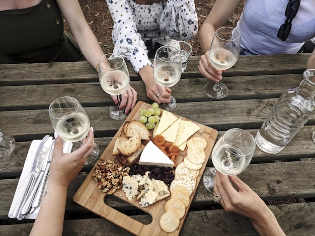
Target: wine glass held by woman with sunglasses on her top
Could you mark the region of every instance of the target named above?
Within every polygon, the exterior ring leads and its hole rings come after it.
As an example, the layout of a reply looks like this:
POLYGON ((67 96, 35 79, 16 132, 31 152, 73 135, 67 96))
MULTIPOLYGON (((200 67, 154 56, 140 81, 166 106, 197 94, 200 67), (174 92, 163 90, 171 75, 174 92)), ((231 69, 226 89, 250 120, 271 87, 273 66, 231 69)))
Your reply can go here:
MULTIPOLYGON (((240 54, 241 32, 232 27, 221 27, 215 31, 209 49, 211 64, 219 69, 226 70, 232 67, 240 54)), ((205 86, 209 97, 220 99, 227 95, 228 89, 221 82, 209 82, 205 86)))

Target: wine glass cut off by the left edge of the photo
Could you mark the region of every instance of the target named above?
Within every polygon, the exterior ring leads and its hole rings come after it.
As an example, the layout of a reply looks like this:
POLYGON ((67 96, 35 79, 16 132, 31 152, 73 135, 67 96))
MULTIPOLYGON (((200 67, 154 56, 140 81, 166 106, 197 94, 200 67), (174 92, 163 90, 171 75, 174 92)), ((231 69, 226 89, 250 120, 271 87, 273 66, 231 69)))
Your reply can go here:
POLYGON ((13 166, 21 155, 22 148, 15 142, 13 136, 0 129, 0 170, 13 166))

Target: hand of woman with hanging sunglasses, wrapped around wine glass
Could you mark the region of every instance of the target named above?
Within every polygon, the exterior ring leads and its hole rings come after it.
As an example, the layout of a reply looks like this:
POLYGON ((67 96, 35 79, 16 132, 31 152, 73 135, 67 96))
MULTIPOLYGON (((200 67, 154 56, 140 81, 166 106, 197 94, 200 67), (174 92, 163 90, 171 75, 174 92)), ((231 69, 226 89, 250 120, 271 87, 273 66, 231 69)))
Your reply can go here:
POLYGON ((209 51, 201 56, 198 69, 203 77, 210 79, 214 82, 219 82, 222 79, 222 72, 225 70, 216 69, 210 62, 209 51))

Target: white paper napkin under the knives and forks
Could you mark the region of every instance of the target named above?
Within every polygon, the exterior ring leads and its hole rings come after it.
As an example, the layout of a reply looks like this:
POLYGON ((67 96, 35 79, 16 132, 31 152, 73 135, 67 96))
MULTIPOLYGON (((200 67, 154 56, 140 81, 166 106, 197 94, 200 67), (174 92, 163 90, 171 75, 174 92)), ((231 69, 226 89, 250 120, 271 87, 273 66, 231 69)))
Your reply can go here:
MULTIPOLYGON (((53 140, 51 142, 53 142, 53 140)), ((26 159, 25 159, 25 163, 24 163, 24 167, 23 167, 20 179, 19 179, 19 183, 18 183, 17 189, 15 191, 15 194, 14 194, 14 197, 12 200, 12 204, 11 204, 11 207, 10 207, 10 210, 8 213, 8 216, 10 218, 14 218, 13 217, 13 211, 14 211, 15 206, 17 205, 17 203, 20 199, 20 196, 22 195, 22 192, 24 190, 25 184, 26 184, 27 179, 29 177, 29 174, 31 172, 34 158, 35 158, 35 155, 36 155, 36 152, 37 152, 37 149, 38 149, 40 143, 41 143, 41 140, 33 140, 31 143, 30 149, 29 149, 27 156, 26 156, 26 159)), ((70 153, 72 150, 72 145, 73 144, 71 142, 66 142, 64 144, 64 147, 63 147, 63 153, 70 153)), ((44 191, 45 190, 46 190, 46 186, 45 186, 44 191)), ((41 202, 40 202, 40 205, 41 205, 41 202)), ((26 214, 25 218, 26 219, 36 219, 37 214, 39 212, 40 205, 38 207, 36 207, 36 209, 34 210, 33 213, 26 214)))

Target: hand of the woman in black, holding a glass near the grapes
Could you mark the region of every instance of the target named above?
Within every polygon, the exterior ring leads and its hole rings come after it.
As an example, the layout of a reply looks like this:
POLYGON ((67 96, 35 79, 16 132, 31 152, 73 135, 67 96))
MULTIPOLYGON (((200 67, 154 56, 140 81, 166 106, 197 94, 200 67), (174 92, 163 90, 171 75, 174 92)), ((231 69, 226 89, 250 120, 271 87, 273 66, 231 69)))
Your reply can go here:
POLYGON ((137 102, 138 93, 129 85, 127 90, 121 94, 121 101, 117 99, 118 96, 111 95, 111 97, 116 105, 119 103, 119 109, 122 110, 125 107, 125 114, 128 114, 137 102))

